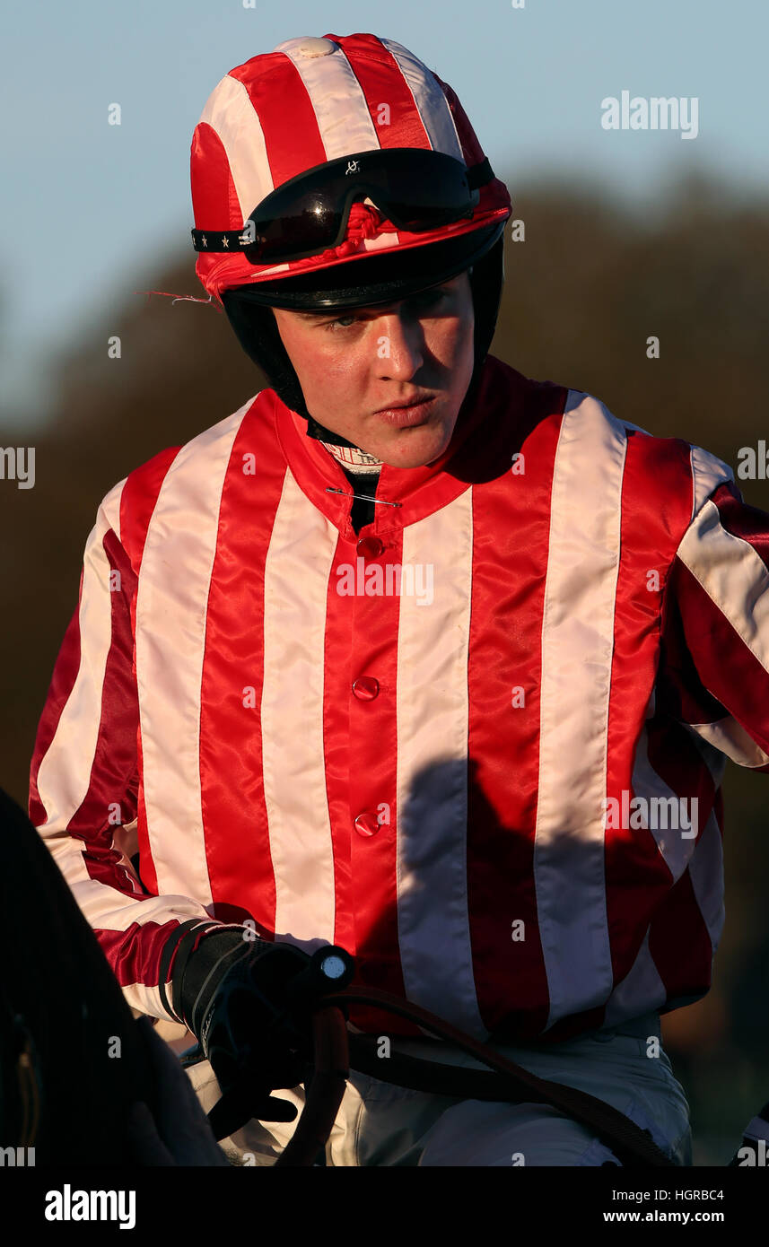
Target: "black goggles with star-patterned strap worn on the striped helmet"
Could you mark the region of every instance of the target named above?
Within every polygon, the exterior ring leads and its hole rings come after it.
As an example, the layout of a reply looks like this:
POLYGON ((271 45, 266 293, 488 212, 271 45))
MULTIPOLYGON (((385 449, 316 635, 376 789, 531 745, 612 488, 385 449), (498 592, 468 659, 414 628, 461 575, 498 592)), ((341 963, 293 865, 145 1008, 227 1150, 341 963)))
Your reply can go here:
POLYGON ((355 200, 370 198, 396 229, 424 233, 472 217, 489 160, 467 168, 418 147, 354 152, 315 165, 272 191, 242 229, 193 229, 196 251, 236 252, 252 264, 305 259, 338 247, 355 200))

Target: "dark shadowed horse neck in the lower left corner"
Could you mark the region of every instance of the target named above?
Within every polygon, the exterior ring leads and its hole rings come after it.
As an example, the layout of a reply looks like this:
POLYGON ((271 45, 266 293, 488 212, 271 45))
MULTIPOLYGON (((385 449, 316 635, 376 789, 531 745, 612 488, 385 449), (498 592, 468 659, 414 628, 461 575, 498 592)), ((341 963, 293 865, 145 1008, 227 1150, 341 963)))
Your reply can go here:
POLYGON ((155 1101, 141 1029, 37 831, 0 788, 0 1136, 36 1165, 135 1163, 155 1101), (120 1055, 116 1055, 120 1052, 120 1055))

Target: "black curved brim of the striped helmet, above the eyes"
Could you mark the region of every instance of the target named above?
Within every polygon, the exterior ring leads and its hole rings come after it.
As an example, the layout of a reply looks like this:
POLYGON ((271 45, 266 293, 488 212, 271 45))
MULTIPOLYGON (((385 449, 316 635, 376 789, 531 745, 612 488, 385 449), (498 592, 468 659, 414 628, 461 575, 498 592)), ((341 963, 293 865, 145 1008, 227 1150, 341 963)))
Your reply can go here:
POLYGON ((490 251, 504 228, 505 221, 495 221, 441 242, 384 254, 369 252, 315 272, 233 287, 232 292, 249 303, 297 312, 393 303, 457 277, 490 251))

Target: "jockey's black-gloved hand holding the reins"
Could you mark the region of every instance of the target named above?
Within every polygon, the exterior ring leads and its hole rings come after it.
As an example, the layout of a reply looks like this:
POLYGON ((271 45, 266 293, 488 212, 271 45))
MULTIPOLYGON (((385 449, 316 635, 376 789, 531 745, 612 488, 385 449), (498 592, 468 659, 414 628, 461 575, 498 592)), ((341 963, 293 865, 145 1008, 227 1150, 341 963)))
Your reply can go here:
POLYGON ((288 988, 309 963, 293 944, 244 940, 233 930, 206 935, 189 956, 174 1008, 222 1090, 209 1115, 218 1139, 249 1117, 297 1116, 292 1104, 269 1091, 298 1086, 307 1077, 310 1014, 289 1009, 288 988))

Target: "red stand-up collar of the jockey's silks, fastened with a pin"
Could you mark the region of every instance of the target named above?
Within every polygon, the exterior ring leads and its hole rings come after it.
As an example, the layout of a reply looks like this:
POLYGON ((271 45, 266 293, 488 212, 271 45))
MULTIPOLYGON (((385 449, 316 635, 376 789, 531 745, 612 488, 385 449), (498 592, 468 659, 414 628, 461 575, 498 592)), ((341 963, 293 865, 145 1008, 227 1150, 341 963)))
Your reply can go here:
MULTIPOLYGON (((454 501, 474 483, 504 475, 511 463, 510 446, 521 430, 527 384, 515 369, 487 355, 475 395, 467 393, 444 454, 420 468, 383 464, 374 520, 364 525, 361 534, 396 536, 403 527, 454 501)), ((342 465, 322 441, 308 438, 305 418, 272 393, 275 433, 297 484, 343 537, 356 541, 360 534, 350 524, 350 481, 342 465)))

